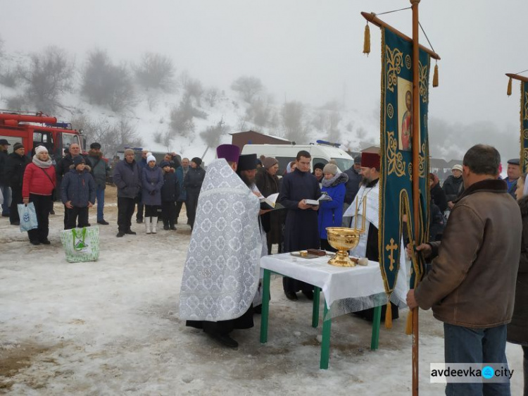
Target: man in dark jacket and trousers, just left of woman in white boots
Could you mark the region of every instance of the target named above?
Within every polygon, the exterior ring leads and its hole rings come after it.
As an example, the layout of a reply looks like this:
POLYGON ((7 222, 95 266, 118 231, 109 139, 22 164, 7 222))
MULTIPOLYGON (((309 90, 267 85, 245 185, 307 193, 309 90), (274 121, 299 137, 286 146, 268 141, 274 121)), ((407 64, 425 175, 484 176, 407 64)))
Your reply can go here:
POLYGON ((125 159, 120 161, 113 171, 113 182, 118 187, 118 235, 136 235, 131 230, 132 215, 137 194, 141 186, 141 171, 134 159, 134 150, 125 150, 125 159))

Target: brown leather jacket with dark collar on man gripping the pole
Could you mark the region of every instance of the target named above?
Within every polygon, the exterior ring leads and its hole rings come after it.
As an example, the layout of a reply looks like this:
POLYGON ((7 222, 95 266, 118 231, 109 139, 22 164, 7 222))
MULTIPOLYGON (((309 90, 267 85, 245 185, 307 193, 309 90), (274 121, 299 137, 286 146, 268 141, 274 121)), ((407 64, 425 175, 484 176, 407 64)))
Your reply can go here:
POLYGON ((455 326, 509 323, 521 251, 519 205, 503 180, 465 190, 451 211, 442 242, 431 242, 432 269, 415 290, 422 309, 455 326))

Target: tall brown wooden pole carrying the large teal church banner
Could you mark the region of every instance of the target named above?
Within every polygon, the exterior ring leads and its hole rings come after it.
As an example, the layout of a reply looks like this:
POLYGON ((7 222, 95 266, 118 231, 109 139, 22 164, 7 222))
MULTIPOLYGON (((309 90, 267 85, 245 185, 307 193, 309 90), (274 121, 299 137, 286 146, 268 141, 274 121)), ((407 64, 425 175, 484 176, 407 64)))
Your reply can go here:
MULTIPOLYGON (((420 240, 420 38, 418 25, 418 4, 410 0, 413 8, 413 214, 417 243, 420 240)), ((418 308, 413 309, 413 396, 418 395, 418 308)))

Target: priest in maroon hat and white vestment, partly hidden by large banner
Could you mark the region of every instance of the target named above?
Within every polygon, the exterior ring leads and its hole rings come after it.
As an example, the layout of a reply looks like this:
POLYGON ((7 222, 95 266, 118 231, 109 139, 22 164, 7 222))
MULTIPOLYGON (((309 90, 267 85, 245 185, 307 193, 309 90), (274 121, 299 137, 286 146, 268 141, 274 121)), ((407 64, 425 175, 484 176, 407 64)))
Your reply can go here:
MULTIPOLYGON (((360 235, 358 246, 351 250, 354 257, 366 257, 370 261, 379 261, 379 154, 361 154, 361 187, 352 204, 343 216, 352 218, 351 228, 365 230, 360 235)), ((391 303, 392 318, 399 316, 398 307, 391 303)), ((386 305, 382 306, 382 320, 385 318, 386 305)), ((358 316, 372 321, 374 309, 355 312, 358 316)))

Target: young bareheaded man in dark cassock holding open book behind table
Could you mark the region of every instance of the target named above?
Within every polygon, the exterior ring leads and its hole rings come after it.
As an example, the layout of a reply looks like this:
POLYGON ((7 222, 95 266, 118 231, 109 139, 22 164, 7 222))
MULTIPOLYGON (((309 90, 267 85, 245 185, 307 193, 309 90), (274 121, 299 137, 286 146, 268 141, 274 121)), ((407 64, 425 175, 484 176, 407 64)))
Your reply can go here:
MULTIPOLYGON (((310 173, 310 159, 308 151, 299 151, 295 171, 282 178, 279 202, 287 208, 284 252, 318 249, 320 246, 317 212, 319 206, 308 205, 305 201, 321 196, 319 183, 310 173)), ((284 277, 282 286, 288 299, 296 300, 296 292, 299 290, 308 299, 313 299, 313 285, 284 277)))

